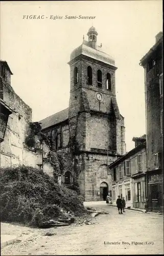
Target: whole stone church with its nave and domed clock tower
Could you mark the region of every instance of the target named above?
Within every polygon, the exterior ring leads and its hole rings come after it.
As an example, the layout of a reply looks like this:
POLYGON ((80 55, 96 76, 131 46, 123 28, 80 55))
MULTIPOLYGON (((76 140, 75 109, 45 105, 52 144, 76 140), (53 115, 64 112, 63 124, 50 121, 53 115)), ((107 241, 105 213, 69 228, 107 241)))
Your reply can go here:
MULTIPOLYGON (((109 164, 126 153, 124 117, 115 96, 115 61, 98 46, 91 27, 70 55, 69 106, 39 123, 62 160, 61 182, 78 184, 85 201, 111 194, 109 164)), ((45 154, 46 155, 46 154, 45 154)), ((51 158, 43 157, 50 167, 51 158)))

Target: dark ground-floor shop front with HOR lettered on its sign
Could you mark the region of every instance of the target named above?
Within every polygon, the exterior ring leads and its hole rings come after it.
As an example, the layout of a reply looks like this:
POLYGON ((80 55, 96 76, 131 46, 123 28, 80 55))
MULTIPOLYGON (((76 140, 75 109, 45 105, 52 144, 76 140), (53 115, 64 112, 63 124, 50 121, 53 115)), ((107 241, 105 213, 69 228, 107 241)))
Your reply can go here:
POLYGON ((148 209, 163 212, 163 175, 161 169, 148 173, 148 209))

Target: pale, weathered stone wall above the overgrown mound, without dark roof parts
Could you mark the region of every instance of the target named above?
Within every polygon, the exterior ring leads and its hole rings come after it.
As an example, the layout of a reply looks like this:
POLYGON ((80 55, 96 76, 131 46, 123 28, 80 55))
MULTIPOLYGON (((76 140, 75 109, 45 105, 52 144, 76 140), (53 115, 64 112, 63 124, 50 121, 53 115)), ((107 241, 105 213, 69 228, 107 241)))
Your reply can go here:
POLYGON ((3 99, 14 109, 9 115, 4 141, 1 143, 1 167, 26 164, 38 167, 41 154, 29 151, 25 145, 29 123, 32 121, 31 108, 14 92, 10 84, 3 82, 3 99))

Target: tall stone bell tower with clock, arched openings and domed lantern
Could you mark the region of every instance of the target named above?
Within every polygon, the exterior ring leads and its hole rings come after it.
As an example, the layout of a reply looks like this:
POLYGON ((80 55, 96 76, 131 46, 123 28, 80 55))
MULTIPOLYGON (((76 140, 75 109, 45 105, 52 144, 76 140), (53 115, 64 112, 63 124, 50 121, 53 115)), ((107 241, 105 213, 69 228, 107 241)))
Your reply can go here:
POLYGON ((107 165, 125 154, 125 127, 115 96, 115 61, 98 46, 94 27, 87 35, 88 41, 83 39, 68 62, 69 132, 83 159, 81 193, 85 200, 101 200, 100 190, 107 193, 111 187, 107 165), (100 189, 102 183, 106 183, 106 190, 100 189))

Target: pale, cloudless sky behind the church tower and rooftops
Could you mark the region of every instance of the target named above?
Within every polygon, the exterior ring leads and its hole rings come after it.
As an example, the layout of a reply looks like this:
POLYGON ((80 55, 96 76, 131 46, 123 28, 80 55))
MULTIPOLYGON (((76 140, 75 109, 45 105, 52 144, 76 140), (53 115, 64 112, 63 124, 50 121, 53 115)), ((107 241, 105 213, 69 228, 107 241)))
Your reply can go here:
POLYGON ((146 133, 144 69, 139 60, 162 31, 162 1, 1 2, 1 59, 13 73, 11 85, 39 121, 68 107, 71 52, 98 31, 102 51, 113 56, 116 100, 125 118, 127 151, 146 133), (23 18, 26 15, 26 18, 23 18), (30 19, 27 15, 44 15, 30 19), (63 16, 50 19, 50 16, 63 16), (96 16, 65 19, 65 15, 96 16), (46 18, 48 17, 48 18, 46 18))

